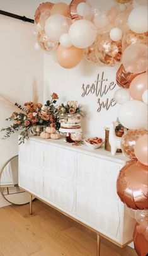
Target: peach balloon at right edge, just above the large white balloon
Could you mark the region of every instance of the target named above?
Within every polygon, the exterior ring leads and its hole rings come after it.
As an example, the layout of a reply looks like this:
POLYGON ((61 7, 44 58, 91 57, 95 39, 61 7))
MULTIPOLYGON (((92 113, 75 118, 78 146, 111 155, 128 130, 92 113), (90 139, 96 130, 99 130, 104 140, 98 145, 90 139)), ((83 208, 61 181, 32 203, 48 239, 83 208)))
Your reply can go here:
POLYGON ((141 100, 145 90, 147 90, 147 73, 139 74, 130 84, 130 96, 134 100, 141 100))

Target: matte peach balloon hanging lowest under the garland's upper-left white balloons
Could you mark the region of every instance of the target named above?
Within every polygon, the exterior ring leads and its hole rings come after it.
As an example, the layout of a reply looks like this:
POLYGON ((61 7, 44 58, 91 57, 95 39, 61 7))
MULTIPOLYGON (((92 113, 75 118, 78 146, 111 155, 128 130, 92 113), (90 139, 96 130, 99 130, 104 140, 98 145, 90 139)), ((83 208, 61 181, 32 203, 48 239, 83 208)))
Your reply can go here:
POLYGON ((65 67, 65 69, 71 69, 76 67, 81 59, 83 58, 83 49, 71 46, 69 48, 64 48, 59 45, 57 49, 57 62, 60 66, 65 67))

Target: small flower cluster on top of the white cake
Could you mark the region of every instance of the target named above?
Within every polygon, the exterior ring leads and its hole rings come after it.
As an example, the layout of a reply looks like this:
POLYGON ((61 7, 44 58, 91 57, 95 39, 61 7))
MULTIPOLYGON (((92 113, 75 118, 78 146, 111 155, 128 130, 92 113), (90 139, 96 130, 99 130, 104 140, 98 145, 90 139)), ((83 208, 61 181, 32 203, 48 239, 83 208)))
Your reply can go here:
POLYGON ((66 105, 63 103, 58 107, 59 115, 79 113, 81 117, 86 116, 86 112, 83 110, 81 105, 77 105, 77 102, 67 102, 66 105))

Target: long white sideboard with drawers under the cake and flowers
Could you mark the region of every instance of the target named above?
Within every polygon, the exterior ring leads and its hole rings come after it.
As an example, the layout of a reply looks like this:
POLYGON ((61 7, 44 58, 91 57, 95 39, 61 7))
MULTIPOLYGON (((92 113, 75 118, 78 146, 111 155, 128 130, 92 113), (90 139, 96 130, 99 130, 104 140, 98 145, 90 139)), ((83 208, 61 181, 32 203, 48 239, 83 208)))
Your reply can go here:
POLYGON ((19 147, 19 185, 123 247, 135 226, 116 192, 126 161, 103 148, 31 137, 19 147))

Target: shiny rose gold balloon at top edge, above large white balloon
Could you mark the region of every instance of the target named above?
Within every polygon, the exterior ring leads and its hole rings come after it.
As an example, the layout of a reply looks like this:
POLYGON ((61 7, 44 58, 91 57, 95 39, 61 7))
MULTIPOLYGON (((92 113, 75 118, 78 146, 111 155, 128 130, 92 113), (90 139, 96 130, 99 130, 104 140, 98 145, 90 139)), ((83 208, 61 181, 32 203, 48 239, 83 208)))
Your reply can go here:
POLYGON ((72 0, 71 4, 68 7, 68 15, 72 20, 81 20, 83 16, 78 15, 77 6, 80 3, 86 3, 86 0, 72 0))

